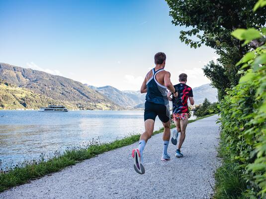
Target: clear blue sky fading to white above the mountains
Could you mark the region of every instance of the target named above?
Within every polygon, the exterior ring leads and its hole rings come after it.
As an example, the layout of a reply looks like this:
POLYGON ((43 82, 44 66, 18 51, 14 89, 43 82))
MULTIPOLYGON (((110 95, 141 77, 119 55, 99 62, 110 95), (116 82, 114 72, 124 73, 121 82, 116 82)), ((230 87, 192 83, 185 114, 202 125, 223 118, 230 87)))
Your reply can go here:
POLYGON ((0 62, 138 90, 165 52, 173 83, 210 82, 201 68, 216 54, 181 43, 171 20, 164 0, 0 0, 0 62))

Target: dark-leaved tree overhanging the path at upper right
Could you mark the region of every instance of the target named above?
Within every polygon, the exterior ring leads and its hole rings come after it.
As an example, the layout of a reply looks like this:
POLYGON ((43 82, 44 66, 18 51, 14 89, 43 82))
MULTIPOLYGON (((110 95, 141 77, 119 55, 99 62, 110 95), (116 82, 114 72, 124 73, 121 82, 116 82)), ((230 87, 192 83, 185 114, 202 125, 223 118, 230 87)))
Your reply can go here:
MULTIPOLYGON (((178 26, 191 27, 190 30, 180 31, 180 40, 191 48, 202 44, 215 49, 220 56, 220 65, 212 63, 205 66, 206 76, 219 76, 223 70, 222 80, 225 86, 236 85, 241 66, 236 63, 251 48, 257 48, 264 43, 265 38, 254 40, 242 46, 243 41, 231 35, 236 28, 261 28, 266 24, 266 7, 253 12, 257 0, 166 0, 170 7, 172 23, 178 26), (221 70, 217 70, 218 67, 221 70), (214 69, 215 68, 215 69, 214 69), (218 73, 215 73, 218 72, 218 73), (212 75, 210 75, 212 73, 212 75)), ((205 72, 204 71, 204 72, 205 72)), ((221 78, 211 78, 212 85, 218 85, 221 78)), ((218 88, 218 87, 217 87, 218 88)), ((220 90, 219 92, 224 92, 220 90)))

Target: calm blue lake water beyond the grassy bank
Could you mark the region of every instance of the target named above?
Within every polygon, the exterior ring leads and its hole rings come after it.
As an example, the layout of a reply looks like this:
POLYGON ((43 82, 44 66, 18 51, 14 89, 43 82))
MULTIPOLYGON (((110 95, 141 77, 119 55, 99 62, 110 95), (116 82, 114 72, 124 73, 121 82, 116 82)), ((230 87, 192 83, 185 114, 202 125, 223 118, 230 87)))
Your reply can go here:
MULTIPOLYGON (((155 130, 163 125, 157 119, 155 130)), ((0 168, 54 151, 112 141, 144 130, 143 111, 0 111, 0 168)))

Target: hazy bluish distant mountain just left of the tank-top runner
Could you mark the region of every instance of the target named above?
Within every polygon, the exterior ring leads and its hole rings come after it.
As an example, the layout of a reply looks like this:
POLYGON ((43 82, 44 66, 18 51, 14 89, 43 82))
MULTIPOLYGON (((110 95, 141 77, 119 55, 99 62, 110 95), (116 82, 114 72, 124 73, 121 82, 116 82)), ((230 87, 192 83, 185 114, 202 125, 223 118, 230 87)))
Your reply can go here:
POLYGON ((89 88, 96 90, 106 96, 109 100, 124 108, 133 108, 136 105, 143 103, 145 99, 145 94, 141 94, 139 91, 120 91, 112 86, 89 86, 89 88))

